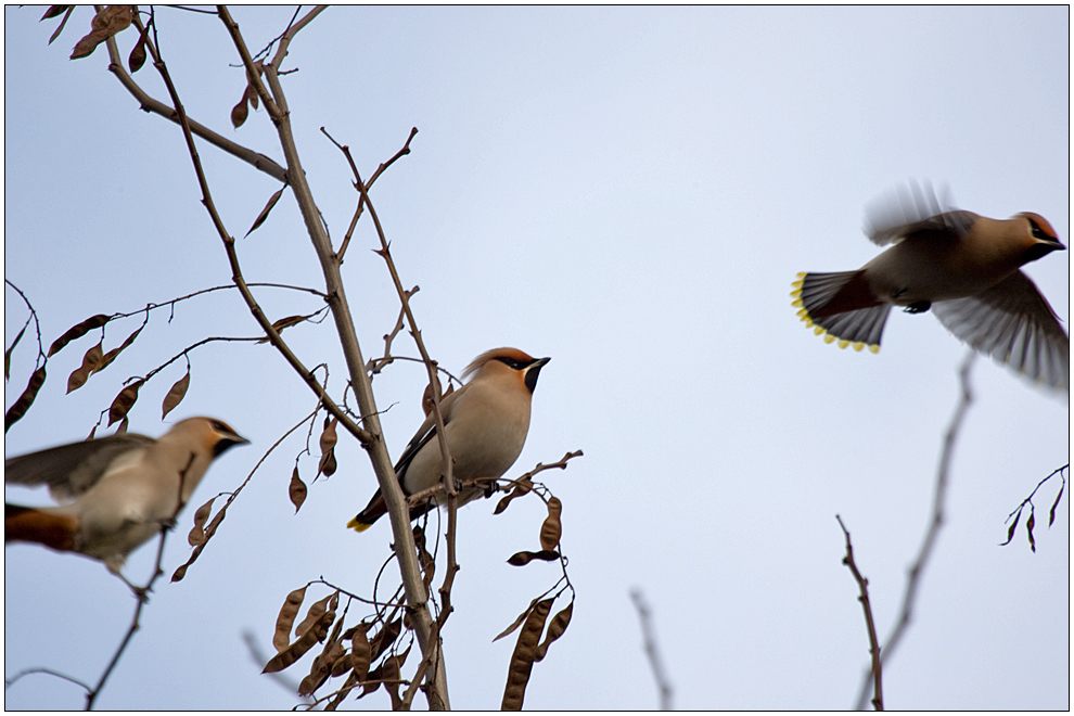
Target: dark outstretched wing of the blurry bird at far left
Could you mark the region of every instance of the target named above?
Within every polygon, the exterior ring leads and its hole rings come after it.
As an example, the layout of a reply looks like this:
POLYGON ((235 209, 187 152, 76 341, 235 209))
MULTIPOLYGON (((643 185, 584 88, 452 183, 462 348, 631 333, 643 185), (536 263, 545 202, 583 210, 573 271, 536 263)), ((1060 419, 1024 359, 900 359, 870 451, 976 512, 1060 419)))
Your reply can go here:
POLYGON ((92 487, 117 458, 144 450, 155 442, 145 435, 122 433, 60 445, 4 460, 3 480, 13 485, 48 485, 53 499, 66 502, 92 487))

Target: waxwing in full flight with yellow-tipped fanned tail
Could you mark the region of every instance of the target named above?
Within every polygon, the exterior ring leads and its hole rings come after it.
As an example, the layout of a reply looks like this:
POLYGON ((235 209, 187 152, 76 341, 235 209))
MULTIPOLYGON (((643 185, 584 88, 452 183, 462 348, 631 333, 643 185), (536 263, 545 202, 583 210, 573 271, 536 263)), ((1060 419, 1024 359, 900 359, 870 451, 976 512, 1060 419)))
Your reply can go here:
POLYGON ((931 308, 977 353, 1069 389, 1070 338, 1020 270, 1065 248, 1043 217, 944 209, 931 189, 913 184, 871 207, 866 234, 891 248, 857 271, 798 273, 792 284, 798 316, 826 342, 877 353, 892 306, 908 314, 931 308))

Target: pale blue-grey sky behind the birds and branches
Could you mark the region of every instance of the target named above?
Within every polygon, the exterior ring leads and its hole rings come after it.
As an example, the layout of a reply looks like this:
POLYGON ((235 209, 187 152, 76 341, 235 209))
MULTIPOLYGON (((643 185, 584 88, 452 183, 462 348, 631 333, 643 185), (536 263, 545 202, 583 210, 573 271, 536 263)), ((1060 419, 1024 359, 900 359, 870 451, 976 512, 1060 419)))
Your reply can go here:
MULTIPOLYGON (((292 12, 234 16, 256 50, 292 12)), ((225 285, 231 273, 178 128, 139 111, 103 48, 67 59, 88 31, 86 9, 51 47, 56 21, 40 14, 4 8, 4 276, 34 305, 48 346, 91 315, 225 285)), ((159 10, 157 23, 188 114, 282 163, 264 108, 230 126, 245 79, 222 24, 179 10, 159 10)), ((282 81, 335 244, 356 195, 320 128, 368 177, 417 127, 411 154, 371 199, 404 284, 421 289, 412 307, 425 345, 457 375, 496 346, 552 358, 509 475, 585 452, 540 475, 563 502, 577 601, 534 668, 527 708, 656 707, 632 589, 652 609, 676 707, 854 704, 868 638, 835 515, 883 640, 930 519, 966 348, 930 314, 894 312, 878 355, 840 350, 798 322, 791 282, 874 256, 865 207, 910 180, 947 184, 958 206, 985 216, 1036 212, 1069 245, 1069 26, 1066 7, 381 7, 331 9, 299 33, 284 63, 297 72, 282 81)), ((119 36, 125 55, 136 39, 119 36)), ((149 64, 136 78, 167 98, 149 64)), ((199 151, 225 225, 242 236, 278 182, 204 142, 199 151)), ((373 247, 367 217, 343 266, 367 357, 383 350, 399 310, 373 247)), ((238 251, 247 281, 323 287, 290 192, 238 251)), ((1065 324, 1069 254, 1025 271, 1065 324)), ((290 291, 257 296, 273 320, 320 308, 290 291)), ((4 297, 7 347, 27 312, 11 289, 4 297)), ((71 395, 65 376, 100 333, 51 359, 4 453, 82 439, 125 379, 203 337, 258 335, 234 291, 180 303, 168 318, 154 311, 135 344, 71 395)), ((141 321, 108 324, 105 348, 141 321)), ((329 366, 340 396, 346 369, 332 322, 284 335, 307 366, 329 366)), ((28 330, 12 355, 5 407, 34 369, 34 337, 28 330)), ((395 349, 418 355, 406 336, 395 349)), ((251 439, 214 464, 197 506, 234 489, 316 399, 268 345, 216 342, 190 359, 182 404, 162 422, 180 360, 142 388, 130 430, 155 436, 207 414, 251 439)), ((393 457, 421 421, 424 381, 421 366, 397 362, 373 382, 393 457)), ((1069 462, 1069 398, 988 358, 971 382, 946 519, 884 668, 885 705, 1066 709, 1070 499, 1049 529, 1056 480, 1035 498, 1036 552, 1021 527, 998 545, 1007 515, 1069 462)), ((338 471, 314 482, 316 437, 315 456, 298 461, 309 485, 302 510, 287 485, 305 429, 254 474, 186 579, 158 583, 99 707, 297 703, 259 674, 242 634, 270 652, 280 605, 310 580, 368 596, 391 540, 386 522, 345 528, 375 489, 360 447, 341 439, 338 471)), ((48 502, 10 488, 8 499, 48 502)), ((493 504, 460 512, 462 570, 445 631, 456 708, 499 707, 514 639, 491 640, 558 577, 554 564, 506 563, 537 549, 542 506, 519 501, 494 516, 493 504)), ((167 542, 168 574, 189 554, 192 514, 167 542)), ((128 561, 136 581, 152 568, 151 545, 128 561)), ((37 666, 95 681, 133 610, 100 563, 34 545, 5 548, 4 598, 8 678, 37 666)), ((310 659, 292 667, 295 680, 310 659)), ((82 703, 77 686, 44 675, 4 694, 7 708, 82 703)), ((388 700, 381 691, 344 706, 388 700)))

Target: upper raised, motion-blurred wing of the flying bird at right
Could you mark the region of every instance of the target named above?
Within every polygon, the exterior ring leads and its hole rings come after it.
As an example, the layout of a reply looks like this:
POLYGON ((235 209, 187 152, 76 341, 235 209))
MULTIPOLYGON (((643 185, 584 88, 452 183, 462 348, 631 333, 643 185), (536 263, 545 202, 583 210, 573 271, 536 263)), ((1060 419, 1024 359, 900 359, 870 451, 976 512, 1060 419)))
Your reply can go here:
POLYGON ((873 202, 866 210, 866 235, 879 246, 897 243, 911 235, 955 239, 966 235, 976 214, 956 209, 936 197, 932 186, 916 182, 899 187, 873 202))

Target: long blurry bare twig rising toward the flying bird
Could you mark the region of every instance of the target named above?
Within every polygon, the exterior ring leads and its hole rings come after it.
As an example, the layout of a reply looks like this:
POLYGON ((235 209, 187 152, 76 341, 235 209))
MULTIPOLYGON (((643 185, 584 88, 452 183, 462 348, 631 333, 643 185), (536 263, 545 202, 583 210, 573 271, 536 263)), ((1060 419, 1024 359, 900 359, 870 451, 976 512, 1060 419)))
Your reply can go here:
MULTIPOLYGON (((970 408, 970 404, 973 402, 973 393, 970 389, 970 369, 973 368, 973 359, 976 354, 973 350, 967 351, 966 359, 962 361, 962 366, 959 369, 959 381, 961 384, 961 395, 959 397, 958 405, 955 408, 955 414, 951 417, 951 422, 947 427, 947 433, 944 435, 944 447, 939 453, 939 468, 936 471, 936 487, 933 494, 932 502, 932 520, 929 522, 929 527, 925 530, 924 540, 921 542, 921 549, 918 551, 918 557, 913 561, 913 566, 910 567, 910 572, 906 579, 906 590, 903 592, 903 603, 899 606, 899 615, 895 623, 895 628, 892 629, 891 636, 884 641, 884 651, 882 654, 882 662, 886 663, 892 654, 895 652, 895 648, 903 640, 903 636, 906 634, 907 627, 910 625, 910 619, 913 613, 913 604, 918 594, 918 589, 921 586, 921 575, 924 573, 924 568, 929 563, 929 559, 932 557, 932 550, 936 546, 936 538, 939 535, 939 529, 944 525, 944 501, 947 498, 947 484, 949 480, 951 458, 955 455, 955 445, 958 440, 959 431, 962 429, 962 422, 966 419, 966 413, 970 408)), ((861 681, 861 688, 858 691, 858 699, 855 708, 860 711, 865 708, 866 701, 868 700, 869 682, 872 680, 872 669, 868 669, 861 681)))

